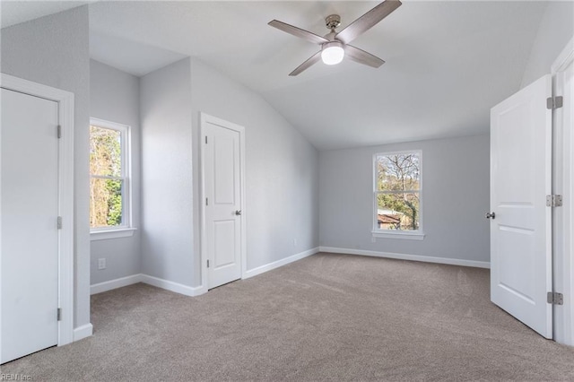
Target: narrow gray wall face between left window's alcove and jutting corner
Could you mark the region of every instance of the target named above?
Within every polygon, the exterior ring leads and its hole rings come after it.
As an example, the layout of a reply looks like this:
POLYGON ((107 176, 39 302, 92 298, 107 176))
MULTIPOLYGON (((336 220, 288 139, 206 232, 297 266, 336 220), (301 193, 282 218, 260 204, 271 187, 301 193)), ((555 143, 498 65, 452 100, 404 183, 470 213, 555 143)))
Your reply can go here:
POLYGON ((142 273, 195 286, 189 59, 140 79, 142 273))

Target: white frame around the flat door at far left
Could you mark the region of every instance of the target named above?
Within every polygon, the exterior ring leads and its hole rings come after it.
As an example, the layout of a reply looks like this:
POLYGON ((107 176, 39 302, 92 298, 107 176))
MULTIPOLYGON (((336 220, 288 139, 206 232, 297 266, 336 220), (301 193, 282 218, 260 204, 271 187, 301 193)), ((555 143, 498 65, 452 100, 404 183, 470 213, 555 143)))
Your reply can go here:
POLYGON ((57 323, 57 345, 62 346, 74 341, 74 93, 4 73, 0 74, 0 87, 53 100, 58 105, 58 121, 62 133, 58 142, 58 216, 62 217, 62 229, 58 230, 57 294, 58 308, 62 309, 62 315, 57 323))

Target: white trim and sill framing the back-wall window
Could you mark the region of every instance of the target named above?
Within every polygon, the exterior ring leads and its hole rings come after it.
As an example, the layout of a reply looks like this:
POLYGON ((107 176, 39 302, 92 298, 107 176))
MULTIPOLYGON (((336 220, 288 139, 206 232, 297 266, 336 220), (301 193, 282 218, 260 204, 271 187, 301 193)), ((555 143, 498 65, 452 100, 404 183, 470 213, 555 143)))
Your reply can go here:
POLYGON ((372 169, 373 169, 373 187, 372 187, 372 191, 373 191, 373 211, 371 213, 372 216, 372 227, 373 230, 371 231, 372 237, 373 238, 382 238, 382 239, 412 239, 412 240, 422 240, 424 239, 424 237, 426 236, 426 234, 423 231, 423 223, 422 223, 422 217, 423 217, 423 213, 422 213, 422 150, 404 150, 404 151, 398 151, 398 152, 377 152, 375 154, 373 154, 373 159, 372 159, 372 163, 371 163, 372 169), (378 213, 378 205, 377 205, 377 196, 378 195, 378 190, 377 190, 377 157, 378 156, 387 156, 387 155, 396 155, 396 154, 408 154, 408 153, 417 153, 419 155, 419 184, 420 187, 418 189, 418 193, 419 193, 419 229, 418 230, 409 230, 409 231, 405 231, 405 230, 381 230, 377 228, 377 213, 378 213))

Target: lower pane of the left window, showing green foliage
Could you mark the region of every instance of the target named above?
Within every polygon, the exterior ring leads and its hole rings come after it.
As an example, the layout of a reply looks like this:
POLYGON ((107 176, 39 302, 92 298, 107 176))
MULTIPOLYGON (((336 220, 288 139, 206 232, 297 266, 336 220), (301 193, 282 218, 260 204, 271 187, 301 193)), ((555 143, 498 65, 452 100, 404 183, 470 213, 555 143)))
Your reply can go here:
POLYGON ((123 180, 90 179, 90 227, 122 225, 123 180))

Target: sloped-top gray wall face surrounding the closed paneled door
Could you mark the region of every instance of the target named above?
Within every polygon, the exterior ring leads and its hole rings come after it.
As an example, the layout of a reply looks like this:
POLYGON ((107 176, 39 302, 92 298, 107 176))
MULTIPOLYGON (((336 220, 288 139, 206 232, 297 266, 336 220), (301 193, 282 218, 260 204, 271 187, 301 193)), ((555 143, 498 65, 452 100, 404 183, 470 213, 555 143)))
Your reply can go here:
MULTIPOLYGON (((201 111, 245 127, 248 270, 317 247, 315 147, 261 96, 199 61, 192 60, 191 64, 194 193, 199 195, 201 111)), ((195 205, 198 235, 198 204, 195 205)), ((198 246, 196 241, 196 254, 198 246)), ((196 256, 196 280, 198 265, 196 256)))

